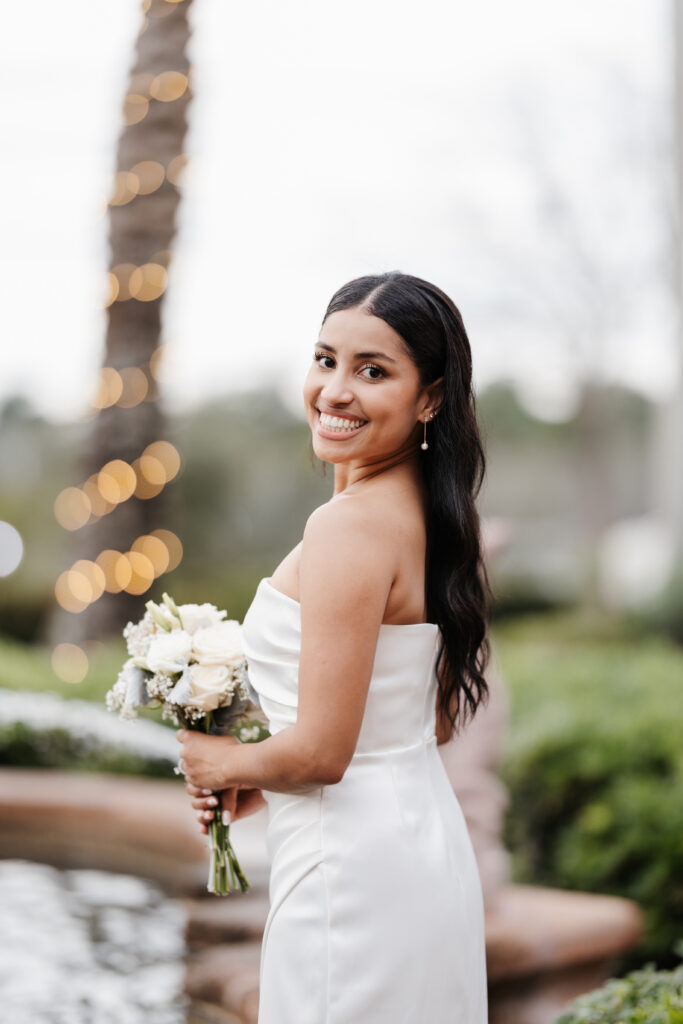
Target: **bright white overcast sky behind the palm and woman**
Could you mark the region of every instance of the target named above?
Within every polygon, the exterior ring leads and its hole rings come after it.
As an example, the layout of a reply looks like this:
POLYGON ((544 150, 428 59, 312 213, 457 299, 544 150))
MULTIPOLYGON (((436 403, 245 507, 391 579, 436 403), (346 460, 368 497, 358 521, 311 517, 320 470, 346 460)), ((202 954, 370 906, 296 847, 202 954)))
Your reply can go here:
MULTIPOLYGON (((3 18, 0 400, 58 419, 102 359, 140 16, 35 0, 3 18)), ((551 416, 582 367, 664 395, 669 17, 663 0, 195 0, 165 393, 275 383, 298 408, 332 293, 401 269, 460 307, 477 386, 513 377, 551 416)))

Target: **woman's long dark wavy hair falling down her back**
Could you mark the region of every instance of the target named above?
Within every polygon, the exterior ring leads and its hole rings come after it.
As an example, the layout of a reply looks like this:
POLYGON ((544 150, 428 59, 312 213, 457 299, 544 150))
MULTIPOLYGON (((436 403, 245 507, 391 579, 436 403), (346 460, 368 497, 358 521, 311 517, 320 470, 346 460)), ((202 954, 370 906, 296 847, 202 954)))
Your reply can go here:
POLYGON ((472 390, 472 353, 460 310, 435 285, 399 270, 343 285, 331 313, 361 306, 403 339, 424 387, 443 377, 443 400, 420 452, 427 490, 425 601, 441 641, 436 660, 439 711, 459 729, 488 695, 483 671, 490 654, 493 597, 481 548, 475 498, 485 473, 472 390))

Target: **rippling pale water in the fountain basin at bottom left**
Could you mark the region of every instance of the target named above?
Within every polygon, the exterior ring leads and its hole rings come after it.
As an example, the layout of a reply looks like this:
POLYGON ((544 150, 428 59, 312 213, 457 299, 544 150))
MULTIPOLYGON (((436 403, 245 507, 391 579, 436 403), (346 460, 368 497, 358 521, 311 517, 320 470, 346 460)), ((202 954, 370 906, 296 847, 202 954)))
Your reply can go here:
POLYGON ((0 860, 0 1019, 185 1024, 184 927, 142 879, 0 860))

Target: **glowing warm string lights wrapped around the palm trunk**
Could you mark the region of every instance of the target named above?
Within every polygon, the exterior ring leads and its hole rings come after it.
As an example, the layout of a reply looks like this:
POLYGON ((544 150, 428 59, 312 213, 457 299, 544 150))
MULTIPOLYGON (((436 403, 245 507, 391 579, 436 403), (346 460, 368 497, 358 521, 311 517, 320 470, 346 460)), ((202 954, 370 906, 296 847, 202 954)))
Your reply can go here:
MULTIPOLYGON (((138 37, 148 30, 153 19, 173 13, 182 2, 184 0, 142 0, 144 17, 138 37)), ((185 102, 188 97, 193 85, 190 72, 155 71, 155 74, 136 72, 130 76, 122 111, 124 124, 128 127, 141 124, 150 114, 153 119, 167 118, 168 115, 156 104, 185 102)), ((184 130, 180 136, 182 134, 184 130)), ((187 165, 185 154, 176 154, 168 160, 164 154, 164 163, 138 160, 127 169, 118 170, 105 209, 125 207, 135 201, 141 203, 143 197, 154 196, 166 182, 178 188, 187 165)), ((121 302, 161 300, 168 287, 170 261, 171 251, 166 248, 153 253, 146 262, 125 262, 111 267, 104 282, 104 309, 121 302)), ((142 401, 156 400, 163 349, 164 346, 159 345, 142 366, 102 367, 90 402, 93 415, 113 407, 132 409, 142 401)), ((65 487, 57 495, 55 518, 66 529, 80 529, 132 497, 154 498, 178 474, 180 465, 177 450, 166 440, 151 442, 132 463, 112 459, 80 486, 65 487)), ((155 529, 136 538, 128 551, 106 548, 94 561, 76 561, 59 574, 54 587, 55 597, 62 608, 78 613, 104 593, 144 593, 156 579, 172 571, 181 559, 182 544, 178 537, 171 530, 155 529)), ((59 678, 77 682, 87 673, 87 655, 75 644, 59 644, 53 651, 53 668, 59 678)))

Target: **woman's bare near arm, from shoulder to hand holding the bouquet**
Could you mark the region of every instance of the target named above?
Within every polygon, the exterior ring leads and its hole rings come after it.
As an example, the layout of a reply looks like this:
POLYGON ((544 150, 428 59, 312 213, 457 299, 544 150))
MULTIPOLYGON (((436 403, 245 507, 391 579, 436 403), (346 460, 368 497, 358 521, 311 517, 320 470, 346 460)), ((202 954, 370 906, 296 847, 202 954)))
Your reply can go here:
POLYGON ((312 513, 299 565, 296 724, 260 743, 244 744, 180 730, 191 783, 305 793, 342 778, 360 731, 395 550, 386 522, 353 498, 312 513))

